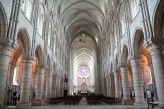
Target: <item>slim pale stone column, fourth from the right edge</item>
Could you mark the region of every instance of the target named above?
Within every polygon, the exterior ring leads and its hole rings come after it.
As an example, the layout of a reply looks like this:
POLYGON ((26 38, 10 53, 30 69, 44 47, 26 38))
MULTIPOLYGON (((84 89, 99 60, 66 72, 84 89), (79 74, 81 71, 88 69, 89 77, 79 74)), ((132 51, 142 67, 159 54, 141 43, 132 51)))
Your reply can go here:
POLYGON ((120 74, 117 71, 114 72, 114 83, 115 83, 115 97, 120 98, 121 97, 120 74))

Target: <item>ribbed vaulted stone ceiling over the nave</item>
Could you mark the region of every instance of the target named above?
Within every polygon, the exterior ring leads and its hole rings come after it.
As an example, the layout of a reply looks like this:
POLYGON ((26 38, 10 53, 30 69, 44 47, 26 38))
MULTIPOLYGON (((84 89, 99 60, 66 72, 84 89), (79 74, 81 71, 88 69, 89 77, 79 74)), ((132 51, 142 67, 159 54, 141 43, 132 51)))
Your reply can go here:
POLYGON ((101 37, 109 0, 60 0, 58 18, 67 40, 88 34, 96 41, 101 37))

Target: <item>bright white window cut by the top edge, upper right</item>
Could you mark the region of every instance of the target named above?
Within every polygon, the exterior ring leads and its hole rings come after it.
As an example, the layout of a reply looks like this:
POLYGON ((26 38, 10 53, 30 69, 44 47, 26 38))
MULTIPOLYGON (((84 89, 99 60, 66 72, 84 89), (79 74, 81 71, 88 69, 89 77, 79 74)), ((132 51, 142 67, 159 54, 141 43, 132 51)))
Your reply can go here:
POLYGON ((130 8, 131 8, 131 17, 132 20, 135 18, 139 11, 139 0, 130 0, 130 8))

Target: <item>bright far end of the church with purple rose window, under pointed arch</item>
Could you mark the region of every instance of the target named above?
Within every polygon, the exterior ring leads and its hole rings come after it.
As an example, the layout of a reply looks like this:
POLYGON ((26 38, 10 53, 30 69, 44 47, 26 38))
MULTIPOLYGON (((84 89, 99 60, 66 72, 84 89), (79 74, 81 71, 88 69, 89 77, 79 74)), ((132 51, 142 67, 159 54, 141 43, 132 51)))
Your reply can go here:
POLYGON ((86 34, 78 35, 71 44, 70 85, 72 93, 94 93, 96 78, 96 44, 86 34))

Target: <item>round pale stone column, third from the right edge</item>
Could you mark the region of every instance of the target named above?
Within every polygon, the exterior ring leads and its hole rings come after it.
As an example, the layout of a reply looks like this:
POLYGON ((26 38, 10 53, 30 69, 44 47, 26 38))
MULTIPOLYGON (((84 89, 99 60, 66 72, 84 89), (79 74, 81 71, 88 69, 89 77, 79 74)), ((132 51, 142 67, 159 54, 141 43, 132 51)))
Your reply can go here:
POLYGON ((122 88, 123 88, 123 99, 124 103, 130 101, 129 82, 128 82, 128 65, 121 67, 122 73, 122 88))

